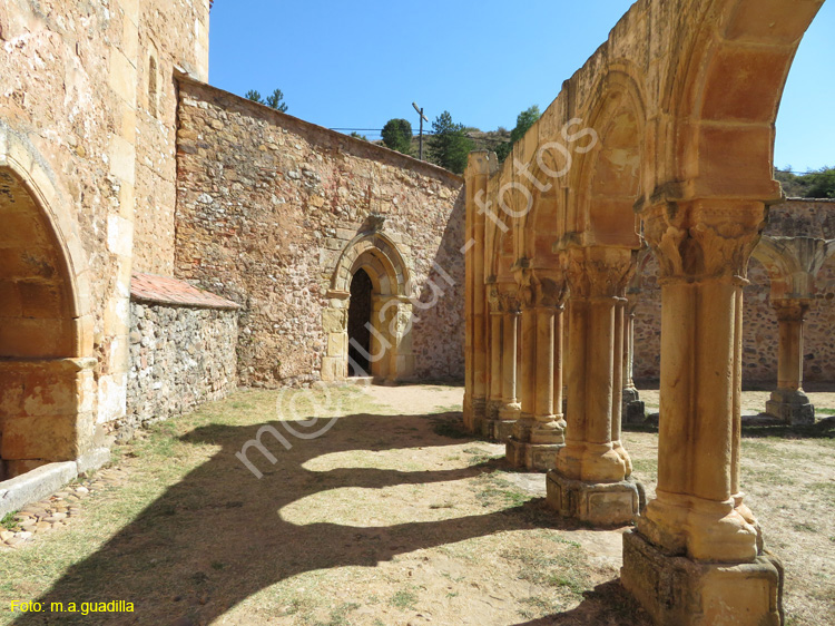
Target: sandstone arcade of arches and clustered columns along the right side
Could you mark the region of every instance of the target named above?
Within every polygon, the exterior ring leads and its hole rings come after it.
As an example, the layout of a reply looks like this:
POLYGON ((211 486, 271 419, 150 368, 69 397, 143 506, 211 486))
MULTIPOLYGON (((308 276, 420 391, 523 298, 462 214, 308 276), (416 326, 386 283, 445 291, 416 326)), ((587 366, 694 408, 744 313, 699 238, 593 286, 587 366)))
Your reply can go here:
POLYGON ((780 567, 739 485, 743 287, 757 248, 780 321, 767 411, 808 421, 802 325, 826 244, 757 244, 782 199, 783 87, 822 3, 637 2, 502 167, 477 153, 466 170, 465 423, 510 432, 512 464, 550 469, 559 515, 635 517, 621 581, 658 624, 782 623, 780 567), (658 488, 640 507, 620 421, 644 245, 661 285, 661 408, 658 488))

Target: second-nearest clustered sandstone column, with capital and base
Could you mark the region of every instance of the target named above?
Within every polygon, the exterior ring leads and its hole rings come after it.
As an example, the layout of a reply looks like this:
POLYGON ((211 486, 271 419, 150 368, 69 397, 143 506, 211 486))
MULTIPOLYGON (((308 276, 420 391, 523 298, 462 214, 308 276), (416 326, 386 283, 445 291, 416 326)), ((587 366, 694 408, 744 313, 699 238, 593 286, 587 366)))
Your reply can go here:
POLYGON ((626 247, 563 253, 569 305, 566 446, 548 472, 548 503, 561 516, 622 526, 639 507, 639 486, 619 441, 622 389, 622 302, 633 271, 626 247), (618 422, 618 423, 616 423, 618 422))

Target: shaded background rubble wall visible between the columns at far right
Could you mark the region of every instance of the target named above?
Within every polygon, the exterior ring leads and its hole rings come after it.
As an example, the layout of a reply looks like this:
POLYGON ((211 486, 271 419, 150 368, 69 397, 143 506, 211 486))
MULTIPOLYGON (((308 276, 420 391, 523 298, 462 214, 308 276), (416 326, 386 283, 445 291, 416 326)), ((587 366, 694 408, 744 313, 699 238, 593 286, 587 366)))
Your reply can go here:
MULTIPOLYGON (((765 234, 835 238, 835 200, 792 199, 772 207, 765 234)), ((777 380, 777 316, 770 305, 770 283, 763 265, 752 260, 750 285, 744 295, 743 380, 769 389, 777 380)), ((806 381, 835 380, 835 258, 817 280, 816 302, 806 316, 806 381)), ((661 294, 658 265, 649 258, 641 272, 641 303, 636 310, 635 375, 657 380, 660 365, 661 294)))

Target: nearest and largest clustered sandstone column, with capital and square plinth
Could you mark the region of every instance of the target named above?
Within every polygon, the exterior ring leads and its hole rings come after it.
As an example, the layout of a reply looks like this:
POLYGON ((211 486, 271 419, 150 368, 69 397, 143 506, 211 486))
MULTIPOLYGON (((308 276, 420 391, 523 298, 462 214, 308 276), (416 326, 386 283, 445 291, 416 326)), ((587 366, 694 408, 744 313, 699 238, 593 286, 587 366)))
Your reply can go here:
POLYGON ((780 623, 779 569, 739 491, 741 288, 764 216, 741 200, 644 212, 661 283, 658 487, 623 537, 621 581, 659 623, 780 623))

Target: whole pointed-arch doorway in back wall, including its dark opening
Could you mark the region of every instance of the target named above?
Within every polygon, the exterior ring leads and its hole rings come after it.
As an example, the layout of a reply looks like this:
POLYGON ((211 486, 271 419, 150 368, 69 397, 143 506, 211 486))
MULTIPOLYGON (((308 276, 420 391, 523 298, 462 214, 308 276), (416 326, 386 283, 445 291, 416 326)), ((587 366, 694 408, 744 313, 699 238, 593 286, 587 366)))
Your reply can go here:
POLYGON ((347 244, 322 315, 327 335, 323 381, 369 375, 391 383, 412 375, 409 276, 403 256, 382 233, 362 233, 347 244))

